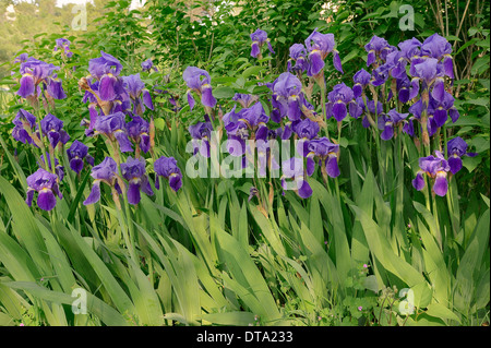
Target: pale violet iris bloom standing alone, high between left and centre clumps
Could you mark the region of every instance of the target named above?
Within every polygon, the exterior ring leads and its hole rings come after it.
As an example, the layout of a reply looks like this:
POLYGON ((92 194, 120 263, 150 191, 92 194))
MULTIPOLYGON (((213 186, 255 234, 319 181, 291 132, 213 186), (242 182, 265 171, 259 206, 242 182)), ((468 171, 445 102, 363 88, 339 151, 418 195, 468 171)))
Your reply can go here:
POLYGON ((182 79, 184 79, 185 84, 188 85, 188 104, 190 109, 192 110, 194 107, 194 98, 191 94, 191 91, 194 91, 201 97, 201 104, 203 106, 213 108, 216 105, 216 99, 213 96, 212 91, 212 77, 207 73, 207 71, 196 68, 196 67, 188 67, 185 68, 182 79))

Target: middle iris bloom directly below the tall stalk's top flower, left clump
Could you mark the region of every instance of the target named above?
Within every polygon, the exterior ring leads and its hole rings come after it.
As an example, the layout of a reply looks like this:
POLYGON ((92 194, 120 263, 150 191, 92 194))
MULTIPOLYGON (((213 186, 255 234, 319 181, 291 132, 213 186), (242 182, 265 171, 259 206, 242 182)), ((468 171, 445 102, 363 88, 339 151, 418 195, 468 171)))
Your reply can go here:
POLYGON ((133 147, 125 131, 124 113, 116 112, 97 118, 94 129, 111 142, 118 141, 122 153, 132 152, 133 147))

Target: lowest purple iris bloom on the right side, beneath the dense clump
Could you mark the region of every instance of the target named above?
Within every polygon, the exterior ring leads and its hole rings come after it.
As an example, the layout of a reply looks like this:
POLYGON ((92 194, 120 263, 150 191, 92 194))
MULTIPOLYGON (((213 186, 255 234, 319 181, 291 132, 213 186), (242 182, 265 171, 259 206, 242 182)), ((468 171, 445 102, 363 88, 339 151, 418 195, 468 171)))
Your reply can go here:
POLYGON ((418 170, 416 178, 412 180, 412 187, 418 191, 424 189, 423 175, 426 173, 431 179, 434 179, 433 192, 440 196, 444 196, 448 190, 446 176, 451 167, 441 152, 435 151, 435 155, 419 158, 420 170, 418 170))

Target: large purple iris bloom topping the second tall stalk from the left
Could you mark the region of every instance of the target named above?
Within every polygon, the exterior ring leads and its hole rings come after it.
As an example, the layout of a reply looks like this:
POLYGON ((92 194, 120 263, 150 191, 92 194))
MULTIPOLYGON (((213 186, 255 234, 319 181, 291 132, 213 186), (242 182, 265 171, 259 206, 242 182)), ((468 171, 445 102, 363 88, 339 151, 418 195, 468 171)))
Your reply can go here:
POLYGON ((100 51, 101 57, 88 61, 88 72, 98 82, 98 95, 101 100, 115 100, 121 94, 122 82, 118 79, 122 64, 109 53, 100 51))

